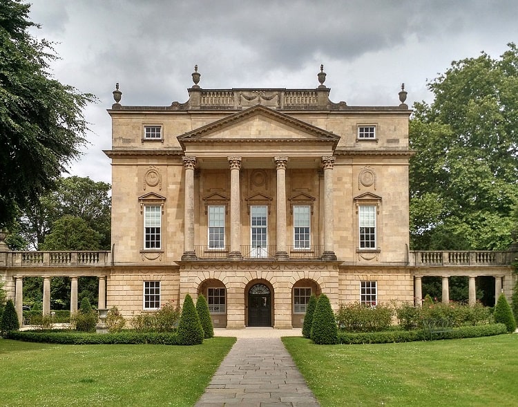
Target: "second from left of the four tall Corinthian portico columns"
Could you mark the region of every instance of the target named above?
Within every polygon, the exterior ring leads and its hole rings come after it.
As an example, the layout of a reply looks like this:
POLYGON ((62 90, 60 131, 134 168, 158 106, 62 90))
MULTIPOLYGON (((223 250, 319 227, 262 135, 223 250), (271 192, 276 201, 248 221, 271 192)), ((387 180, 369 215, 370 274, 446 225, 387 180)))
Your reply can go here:
POLYGON ((230 253, 229 257, 240 259, 241 254, 241 193, 239 170, 241 157, 227 157, 230 164, 230 253))

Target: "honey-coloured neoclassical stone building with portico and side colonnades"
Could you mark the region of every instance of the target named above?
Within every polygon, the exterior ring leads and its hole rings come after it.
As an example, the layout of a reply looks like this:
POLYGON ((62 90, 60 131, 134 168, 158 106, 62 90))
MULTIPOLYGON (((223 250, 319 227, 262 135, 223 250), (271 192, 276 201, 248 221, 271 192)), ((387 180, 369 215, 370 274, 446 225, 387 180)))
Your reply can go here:
POLYGON ((73 309, 77 276, 97 275, 99 307, 128 318, 204 294, 217 328, 300 327, 311 294, 335 309, 419 305, 423 276, 443 277, 443 301, 452 275, 470 276, 471 303, 476 276, 510 296, 510 252, 409 251, 404 87, 394 106, 349 106, 317 76, 316 88, 204 89, 195 67, 171 106, 121 104, 117 84, 112 250, 81 263, 4 249, 19 314, 28 275, 72 276, 73 309))

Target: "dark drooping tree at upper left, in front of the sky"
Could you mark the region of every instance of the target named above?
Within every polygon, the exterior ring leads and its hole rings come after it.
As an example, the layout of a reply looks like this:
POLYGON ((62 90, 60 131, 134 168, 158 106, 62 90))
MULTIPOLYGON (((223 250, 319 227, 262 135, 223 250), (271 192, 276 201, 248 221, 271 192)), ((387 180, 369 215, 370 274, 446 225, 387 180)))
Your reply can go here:
POLYGON ((30 4, 0 2, 0 227, 56 186, 86 144, 83 108, 93 95, 49 73, 48 41, 29 33, 30 4))

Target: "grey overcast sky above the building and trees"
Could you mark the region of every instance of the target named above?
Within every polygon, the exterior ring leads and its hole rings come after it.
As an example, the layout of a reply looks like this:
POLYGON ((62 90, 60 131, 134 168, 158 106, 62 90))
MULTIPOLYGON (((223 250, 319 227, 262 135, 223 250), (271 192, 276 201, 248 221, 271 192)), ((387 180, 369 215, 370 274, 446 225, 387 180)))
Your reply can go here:
POLYGON ((431 102, 427 81, 451 61, 518 42, 518 1, 491 0, 33 0, 32 31, 55 41, 53 75, 99 98, 70 174, 111 182, 111 120, 121 104, 186 102, 198 64, 202 88, 316 88, 320 64, 333 102, 431 102))

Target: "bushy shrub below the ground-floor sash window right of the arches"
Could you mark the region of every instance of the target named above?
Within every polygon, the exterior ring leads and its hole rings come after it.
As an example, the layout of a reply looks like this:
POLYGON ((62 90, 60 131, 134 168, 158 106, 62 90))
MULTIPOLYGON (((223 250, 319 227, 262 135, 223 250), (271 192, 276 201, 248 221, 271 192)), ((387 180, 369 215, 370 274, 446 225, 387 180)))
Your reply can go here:
POLYGON ((376 332, 387 330, 392 323, 392 308, 385 305, 371 307, 365 304, 340 304, 336 322, 341 330, 349 332, 376 332))

